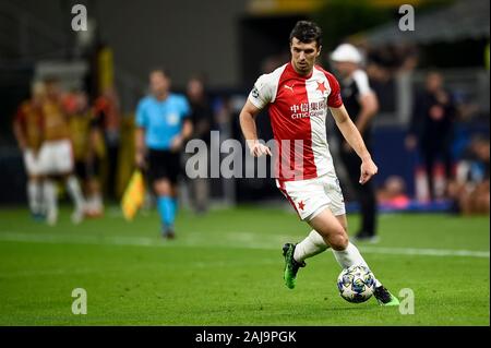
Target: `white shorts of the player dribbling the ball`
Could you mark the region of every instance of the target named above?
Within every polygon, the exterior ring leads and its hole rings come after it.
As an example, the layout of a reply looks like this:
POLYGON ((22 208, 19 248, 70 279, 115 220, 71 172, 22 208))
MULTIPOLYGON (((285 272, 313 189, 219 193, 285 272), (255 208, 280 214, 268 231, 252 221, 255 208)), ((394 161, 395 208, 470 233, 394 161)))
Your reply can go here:
POLYGON ((276 185, 302 220, 313 219, 325 208, 330 208, 334 216, 346 214, 345 199, 335 173, 308 180, 276 180, 276 185))

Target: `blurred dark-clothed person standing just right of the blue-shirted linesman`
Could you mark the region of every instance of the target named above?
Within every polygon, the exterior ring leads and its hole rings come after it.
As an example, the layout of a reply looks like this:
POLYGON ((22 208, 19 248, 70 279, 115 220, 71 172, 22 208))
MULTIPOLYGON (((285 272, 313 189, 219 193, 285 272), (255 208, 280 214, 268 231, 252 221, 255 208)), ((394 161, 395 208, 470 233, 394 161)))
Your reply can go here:
MULTIPOLYGON (((205 93, 203 80, 194 76, 188 82, 188 99, 191 106, 193 122, 193 139, 202 140, 209 148, 209 131, 213 123, 213 110, 205 93)), ((209 153, 200 152, 201 156, 209 158, 209 153)), ((207 160, 205 160, 208 163, 207 160)), ((200 160, 201 163, 201 160, 200 160)), ((197 214, 206 213, 208 208, 209 185, 207 166, 200 168, 200 176, 191 180, 191 205, 197 214)))

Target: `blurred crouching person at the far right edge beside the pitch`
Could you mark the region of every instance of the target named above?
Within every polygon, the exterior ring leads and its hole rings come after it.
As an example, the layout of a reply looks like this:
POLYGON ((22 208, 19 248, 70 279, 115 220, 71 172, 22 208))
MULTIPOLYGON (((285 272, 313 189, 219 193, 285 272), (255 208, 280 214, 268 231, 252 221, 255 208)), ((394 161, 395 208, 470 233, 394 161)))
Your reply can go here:
POLYGON ((475 137, 467 154, 458 163, 457 176, 448 184, 455 211, 465 215, 489 214, 489 139, 475 137))

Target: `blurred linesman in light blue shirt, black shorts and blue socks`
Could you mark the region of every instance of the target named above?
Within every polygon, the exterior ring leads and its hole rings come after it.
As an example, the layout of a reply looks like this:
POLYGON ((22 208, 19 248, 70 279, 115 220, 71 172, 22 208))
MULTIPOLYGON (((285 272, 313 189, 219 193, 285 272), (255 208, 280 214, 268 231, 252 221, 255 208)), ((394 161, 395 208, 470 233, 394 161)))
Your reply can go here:
POLYGON ((173 239, 180 151, 193 131, 191 110, 184 96, 170 93, 166 71, 152 71, 149 84, 152 95, 143 98, 136 110, 135 161, 139 168, 148 169, 153 181, 163 237, 173 239))

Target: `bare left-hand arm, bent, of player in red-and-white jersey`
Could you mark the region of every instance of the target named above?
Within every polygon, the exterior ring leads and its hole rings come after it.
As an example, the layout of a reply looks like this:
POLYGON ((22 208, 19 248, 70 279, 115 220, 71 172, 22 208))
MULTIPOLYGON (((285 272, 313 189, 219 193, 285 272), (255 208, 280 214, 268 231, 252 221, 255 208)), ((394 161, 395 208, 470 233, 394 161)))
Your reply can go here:
POLYGON ((251 101, 247 100, 239 116, 243 137, 246 139, 251 156, 254 157, 261 157, 263 155, 271 156, 271 149, 261 144, 258 140, 255 117, 260 111, 261 109, 256 108, 251 101))

